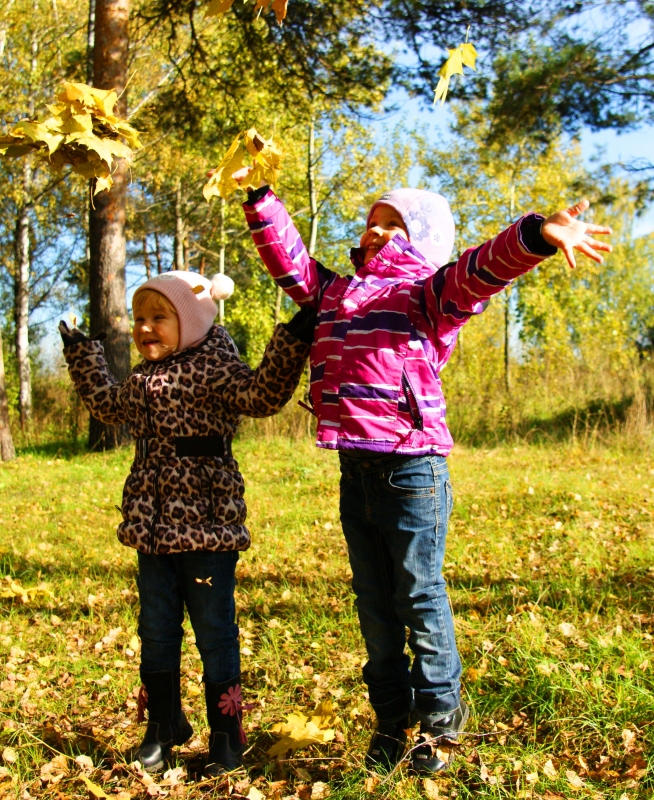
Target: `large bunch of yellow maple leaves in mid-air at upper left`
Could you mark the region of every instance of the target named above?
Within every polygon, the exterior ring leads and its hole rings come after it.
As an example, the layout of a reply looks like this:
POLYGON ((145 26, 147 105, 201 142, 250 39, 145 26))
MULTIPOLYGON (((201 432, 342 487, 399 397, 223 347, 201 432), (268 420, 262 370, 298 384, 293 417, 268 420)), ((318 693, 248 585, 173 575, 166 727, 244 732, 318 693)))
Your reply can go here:
POLYGON ((114 115, 118 95, 113 89, 64 83, 56 100, 47 106, 49 116, 21 120, 0 136, 0 155, 36 153, 55 170, 69 166, 94 180, 94 194, 110 189, 115 160, 131 162, 132 151, 141 147, 138 131, 114 115))

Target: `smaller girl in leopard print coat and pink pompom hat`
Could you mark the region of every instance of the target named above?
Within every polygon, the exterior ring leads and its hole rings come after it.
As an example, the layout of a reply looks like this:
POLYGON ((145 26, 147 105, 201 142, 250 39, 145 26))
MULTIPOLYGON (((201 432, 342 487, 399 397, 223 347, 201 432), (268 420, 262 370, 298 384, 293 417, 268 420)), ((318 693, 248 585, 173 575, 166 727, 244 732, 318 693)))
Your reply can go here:
POLYGON ((276 414, 291 398, 315 324, 314 312, 300 311, 278 325, 252 370, 213 324, 214 299, 215 284, 192 272, 164 273, 140 286, 132 335, 143 361, 121 382, 98 340, 59 326, 86 407, 101 422, 128 424, 136 439, 118 526, 119 540, 138 551, 139 706, 148 710, 148 727, 135 758, 160 769, 193 733, 180 699, 186 605, 204 667, 211 728, 205 773, 212 776, 242 763, 245 742, 234 572, 250 534, 231 441, 243 416, 276 414))

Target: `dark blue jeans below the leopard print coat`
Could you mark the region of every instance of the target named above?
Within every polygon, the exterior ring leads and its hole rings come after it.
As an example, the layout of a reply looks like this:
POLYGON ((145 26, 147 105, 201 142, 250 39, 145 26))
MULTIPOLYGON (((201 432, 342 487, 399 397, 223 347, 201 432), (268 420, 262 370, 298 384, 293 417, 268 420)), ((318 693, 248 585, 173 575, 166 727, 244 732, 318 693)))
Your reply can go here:
POLYGON ((205 678, 222 683, 238 675, 241 663, 234 604, 238 553, 139 553, 138 560, 141 669, 179 669, 186 605, 205 678))

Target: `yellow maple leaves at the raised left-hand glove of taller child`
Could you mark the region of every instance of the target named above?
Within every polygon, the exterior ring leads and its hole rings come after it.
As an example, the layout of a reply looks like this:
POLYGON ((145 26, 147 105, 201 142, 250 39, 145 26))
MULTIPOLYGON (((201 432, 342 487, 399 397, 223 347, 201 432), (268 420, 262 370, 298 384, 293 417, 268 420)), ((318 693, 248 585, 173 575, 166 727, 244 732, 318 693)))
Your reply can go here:
POLYGON ((211 178, 202 189, 206 200, 222 197, 225 200, 237 189, 257 189, 261 182, 273 186, 279 179, 283 153, 272 138, 265 139, 256 128, 241 131, 231 143, 223 160, 213 170, 211 178), (244 159, 252 158, 252 170, 238 184, 232 175, 245 166, 244 159))

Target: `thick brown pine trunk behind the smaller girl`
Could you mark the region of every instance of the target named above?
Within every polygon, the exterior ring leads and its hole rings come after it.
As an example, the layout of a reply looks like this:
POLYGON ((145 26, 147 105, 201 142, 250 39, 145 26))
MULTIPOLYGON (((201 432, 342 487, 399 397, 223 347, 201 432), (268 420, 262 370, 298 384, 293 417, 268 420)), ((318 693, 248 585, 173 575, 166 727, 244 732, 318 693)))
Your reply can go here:
MULTIPOLYGON (((115 89, 118 113, 127 112, 129 0, 95 0, 95 41, 93 85, 115 89), (122 94, 121 94, 122 93, 122 94)), ((119 161, 113 173, 114 185, 93 199, 89 214, 90 324, 91 333, 104 331, 105 356, 116 380, 129 373, 129 319, 125 299, 125 202, 127 166, 119 161)), ((91 419, 89 446, 108 450, 126 443, 126 426, 104 425, 91 419)))

